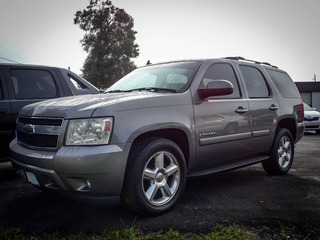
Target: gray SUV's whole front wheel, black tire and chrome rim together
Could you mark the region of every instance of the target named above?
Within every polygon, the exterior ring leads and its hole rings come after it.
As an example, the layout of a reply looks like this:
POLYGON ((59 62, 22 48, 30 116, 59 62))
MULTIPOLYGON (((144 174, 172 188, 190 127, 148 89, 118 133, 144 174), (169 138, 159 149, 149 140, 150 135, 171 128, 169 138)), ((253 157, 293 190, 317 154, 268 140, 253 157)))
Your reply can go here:
POLYGON ((183 194, 186 163, 177 144, 148 138, 133 146, 126 168, 121 203, 141 215, 169 211, 183 194))

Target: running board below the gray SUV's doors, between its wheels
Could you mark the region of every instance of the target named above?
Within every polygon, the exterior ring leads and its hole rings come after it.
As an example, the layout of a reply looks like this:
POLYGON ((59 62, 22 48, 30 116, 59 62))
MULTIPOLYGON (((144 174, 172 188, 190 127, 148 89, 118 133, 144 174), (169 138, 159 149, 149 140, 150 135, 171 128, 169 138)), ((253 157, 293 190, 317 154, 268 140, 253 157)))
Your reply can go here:
POLYGON ((235 168, 240 168, 240 167, 252 165, 252 164, 259 163, 259 162, 262 162, 262 161, 265 161, 268 159, 269 159, 269 156, 267 156, 267 155, 249 158, 246 160, 232 163, 230 165, 218 165, 218 166, 214 166, 211 168, 194 170, 194 171, 189 172, 187 176, 188 177, 200 177, 200 176, 204 176, 204 175, 209 175, 209 174, 213 174, 213 173, 223 172, 223 171, 227 171, 227 170, 231 170, 231 169, 235 169, 235 168))

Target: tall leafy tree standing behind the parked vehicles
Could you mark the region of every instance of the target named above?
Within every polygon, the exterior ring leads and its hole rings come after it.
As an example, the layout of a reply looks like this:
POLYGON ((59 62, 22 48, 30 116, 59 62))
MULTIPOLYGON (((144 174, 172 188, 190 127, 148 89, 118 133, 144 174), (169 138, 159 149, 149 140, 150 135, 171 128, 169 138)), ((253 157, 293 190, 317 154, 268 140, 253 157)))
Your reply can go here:
POLYGON ((107 88, 136 68, 131 58, 139 56, 133 18, 110 0, 90 0, 77 11, 74 24, 85 31, 81 40, 88 56, 83 77, 98 88, 107 88))

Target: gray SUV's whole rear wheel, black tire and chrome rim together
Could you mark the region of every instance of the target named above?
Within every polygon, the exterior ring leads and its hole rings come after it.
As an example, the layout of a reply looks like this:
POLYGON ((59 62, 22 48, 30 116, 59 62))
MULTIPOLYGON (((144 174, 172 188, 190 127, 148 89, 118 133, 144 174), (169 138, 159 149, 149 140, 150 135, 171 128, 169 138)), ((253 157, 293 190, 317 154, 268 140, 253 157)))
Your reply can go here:
POLYGON ((285 174, 291 168, 294 157, 294 143, 290 131, 280 128, 274 139, 270 158, 262 162, 263 168, 270 174, 285 174))

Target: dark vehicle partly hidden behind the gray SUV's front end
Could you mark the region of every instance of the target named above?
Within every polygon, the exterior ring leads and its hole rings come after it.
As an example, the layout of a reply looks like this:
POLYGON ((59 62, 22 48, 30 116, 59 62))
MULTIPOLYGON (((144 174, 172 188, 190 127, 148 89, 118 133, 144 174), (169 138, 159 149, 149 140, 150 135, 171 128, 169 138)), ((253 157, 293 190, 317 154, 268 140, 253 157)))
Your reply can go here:
POLYGON ((9 143, 14 138, 20 109, 45 99, 99 90, 71 71, 62 68, 0 64, 0 161, 9 160, 9 143))

